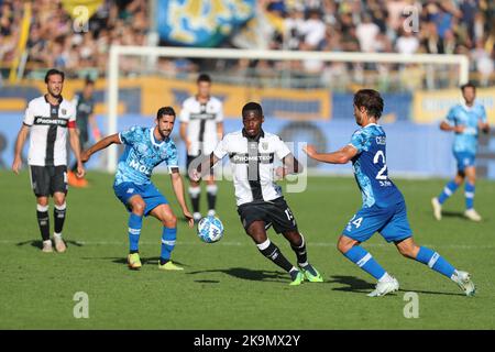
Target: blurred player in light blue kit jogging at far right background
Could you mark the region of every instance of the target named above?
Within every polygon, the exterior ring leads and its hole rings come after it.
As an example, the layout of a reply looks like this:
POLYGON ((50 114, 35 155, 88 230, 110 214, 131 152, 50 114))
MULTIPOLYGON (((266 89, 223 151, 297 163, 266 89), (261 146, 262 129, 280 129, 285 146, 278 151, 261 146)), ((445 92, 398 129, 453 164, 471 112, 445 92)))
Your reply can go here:
POLYGON ((431 205, 433 206, 435 218, 441 220, 443 202, 466 179, 464 186, 464 216, 470 220, 481 221, 481 216, 474 210, 474 184, 476 182, 474 161, 479 133, 480 131, 488 133, 490 124, 486 120, 485 108, 474 101, 476 87, 473 84, 465 84, 461 87, 461 90, 465 103, 452 107, 447 114, 447 119, 440 124, 442 131, 453 131, 455 133, 452 151, 458 162, 458 174, 446 185, 438 197, 431 199, 431 205))

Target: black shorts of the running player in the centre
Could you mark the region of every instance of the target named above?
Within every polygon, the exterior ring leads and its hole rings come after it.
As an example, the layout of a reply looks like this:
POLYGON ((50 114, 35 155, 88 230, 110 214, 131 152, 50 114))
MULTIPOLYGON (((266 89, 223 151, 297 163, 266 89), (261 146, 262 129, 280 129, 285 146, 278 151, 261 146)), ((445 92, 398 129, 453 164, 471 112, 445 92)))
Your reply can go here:
POLYGON ((248 232, 248 228, 254 221, 265 222, 265 229, 273 226, 277 233, 287 231, 298 231, 297 222, 284 197, 271 201, 253 201, 238 207, 242 226, 248 232))

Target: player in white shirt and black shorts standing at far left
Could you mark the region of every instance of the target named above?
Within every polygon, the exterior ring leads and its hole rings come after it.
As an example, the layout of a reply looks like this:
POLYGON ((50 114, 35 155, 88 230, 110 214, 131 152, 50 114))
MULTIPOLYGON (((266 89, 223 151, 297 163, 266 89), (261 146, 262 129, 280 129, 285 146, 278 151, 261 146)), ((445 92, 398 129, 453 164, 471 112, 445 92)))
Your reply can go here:
POLYGON ((53 252, 50 240, 48 197, 55 202, 54 241, 57 252, 65 252, 62 229, 66 215, 67 194, 67 132, 77 161, 77 177, 85 169, 79 155, 79 138, 76 132, 74 106, 62 97, 65 75, 50 69, 45 76, 46 95, 29 102, 25 117, 15 142, 12 170, 19 174, 22 166, 22 147, 30 136, 29 160, 31 186, 36 196, 37 223, 43 239, 43 252, 53 252))

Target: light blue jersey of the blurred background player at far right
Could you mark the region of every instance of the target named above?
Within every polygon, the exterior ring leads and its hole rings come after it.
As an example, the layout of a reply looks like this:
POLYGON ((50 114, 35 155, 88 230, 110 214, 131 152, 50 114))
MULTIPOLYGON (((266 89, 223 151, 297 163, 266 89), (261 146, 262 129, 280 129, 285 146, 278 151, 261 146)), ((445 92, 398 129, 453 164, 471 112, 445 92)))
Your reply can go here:
POLYGON ((486 111, 481 103, 474 103, 472 107, 457 105, 449 110, 447 121, 450 125, 463 125, 462 133, 455 133, 453 151, 455 153, 476 154, 477 134, 480 121, 486 122, 486 111))

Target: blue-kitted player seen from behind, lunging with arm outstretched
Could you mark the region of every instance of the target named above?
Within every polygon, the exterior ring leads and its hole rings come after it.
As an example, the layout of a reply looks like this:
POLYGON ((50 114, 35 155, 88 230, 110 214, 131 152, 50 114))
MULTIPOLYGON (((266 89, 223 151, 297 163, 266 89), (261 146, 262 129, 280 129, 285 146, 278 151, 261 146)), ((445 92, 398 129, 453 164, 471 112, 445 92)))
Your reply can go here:
POLYGON ((354 117, 361 129, 354 132, 351 142, 333 153, 318 153, 312 145, 304 147, 309 157, 319 162, 345 164, 352 161, 363 207, 344 228, 338 249, 346 258, 378 280, 376 289, 369 294, 370 297, 384 296, 399 288, 397 279, 360 245, 376 231, 387 242, 394 242, 405 257, 427 264, 457 283, 465 295, 472 296, 475 287, 469 273, 455 270, 440 254, 417 245, 413 240, 404 197, 388 178, 386 135, 377 124, 383 106, 383 99, 376 90, 359 90, 354 95, 354 117))

